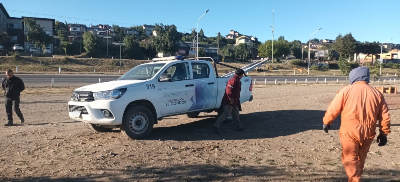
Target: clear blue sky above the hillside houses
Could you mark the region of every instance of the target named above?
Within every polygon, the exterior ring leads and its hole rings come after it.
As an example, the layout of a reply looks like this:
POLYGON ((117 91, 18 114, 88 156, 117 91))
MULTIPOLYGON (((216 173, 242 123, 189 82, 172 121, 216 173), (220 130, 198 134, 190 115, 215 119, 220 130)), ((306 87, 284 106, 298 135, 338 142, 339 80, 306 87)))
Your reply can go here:
POLYGON ((2 0, 13 17, 54 18, 68 23, 174 24, 180 32, 197 28, 206 36, 222 36, 230 30, 264 42, 284 36, 307 42, 311 38, 332 39, 352 33, 361 42, 400 43, 400 1, 377 0, 2 0), (200 3, 199 3, 200 2, 200 3), (272 16, 274 10, 274 16, 272 16), (272 21, 274 22, 272 24, 272 21))

